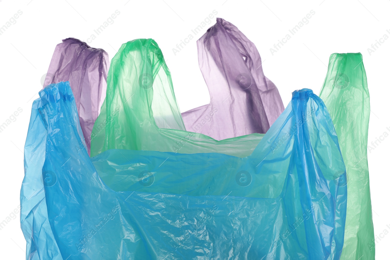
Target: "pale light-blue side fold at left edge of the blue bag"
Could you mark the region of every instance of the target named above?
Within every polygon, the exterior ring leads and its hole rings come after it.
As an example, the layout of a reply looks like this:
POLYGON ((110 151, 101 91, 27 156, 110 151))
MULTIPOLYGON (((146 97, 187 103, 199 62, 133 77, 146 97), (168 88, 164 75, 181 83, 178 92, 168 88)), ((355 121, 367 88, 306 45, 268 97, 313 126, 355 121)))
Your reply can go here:
MULTIPOLYGON (((38 110, 41 106, 40 99, 32 104, 24 147, 25 177, 20 190, 20 227, 26 239, 26 260, 64 260, 51 231, 46 206, 44 185, 50 185, 52 175, 42 175, 47 131, 38 110)), ((80 134, 82 136, 81 128, 80 134)))

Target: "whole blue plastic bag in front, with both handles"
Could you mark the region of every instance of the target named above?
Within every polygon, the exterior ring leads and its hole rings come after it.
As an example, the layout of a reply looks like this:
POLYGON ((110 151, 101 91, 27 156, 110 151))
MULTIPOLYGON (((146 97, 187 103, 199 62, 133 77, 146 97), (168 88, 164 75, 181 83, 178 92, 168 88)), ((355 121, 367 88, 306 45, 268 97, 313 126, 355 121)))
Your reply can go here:
POLYGON ((92 161, 69 83, 39 95, 26 149, 46 141, 46 154, 26 154, 25 179, 44 183, 30 213, 40 259, 339 258, 345 166, 311 90, 293 93, 245 158, 112 149, 92 161))

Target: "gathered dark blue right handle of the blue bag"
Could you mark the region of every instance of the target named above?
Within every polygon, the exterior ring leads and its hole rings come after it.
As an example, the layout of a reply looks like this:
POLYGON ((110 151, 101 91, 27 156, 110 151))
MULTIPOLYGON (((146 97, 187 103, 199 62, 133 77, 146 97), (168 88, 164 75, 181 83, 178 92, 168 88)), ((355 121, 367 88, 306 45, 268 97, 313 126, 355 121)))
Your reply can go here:
POLYGON ((312 259, 327 258, 334 245, 334 251, 340 254, 344 242, 344 228, 337 226, 345 226, 347 187, 340 185, 346 178, 345 165, 323 101, 312 90, 303 89, 293 92, 291 104, 297 124, 294 152, 300 201, 303 212, 312 209, 311 218, 304 222, 308 253, 312 259), (324 154, 319 152, 321 149, 328 150, 329 158, 318 155, 324 154), (323 251, 314 250, 318 247, 323 251))

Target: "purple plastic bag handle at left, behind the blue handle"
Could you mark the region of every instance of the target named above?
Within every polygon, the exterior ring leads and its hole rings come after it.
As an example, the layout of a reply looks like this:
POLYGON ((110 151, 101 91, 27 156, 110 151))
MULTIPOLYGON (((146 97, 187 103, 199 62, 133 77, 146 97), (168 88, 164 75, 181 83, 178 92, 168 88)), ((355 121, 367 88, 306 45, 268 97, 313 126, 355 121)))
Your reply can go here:
POLYGON ((92 128, 106 97, 108 67, 108 54, 103 49, 67 38, 57 44, 44 81, 43 87, 70 82, 88 152, 92 128))

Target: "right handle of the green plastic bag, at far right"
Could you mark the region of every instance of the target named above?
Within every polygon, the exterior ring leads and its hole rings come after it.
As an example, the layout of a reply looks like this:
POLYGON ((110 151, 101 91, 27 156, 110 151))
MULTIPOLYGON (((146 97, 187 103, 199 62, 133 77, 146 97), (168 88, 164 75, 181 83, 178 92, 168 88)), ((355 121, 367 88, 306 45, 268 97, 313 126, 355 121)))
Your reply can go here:
POLYGON ((370 96, 362 54, 330 56, 320 97, 332 117, 347 170, 347 219, 340 259, 372 260, 375 243, 367 164, 370 96))

